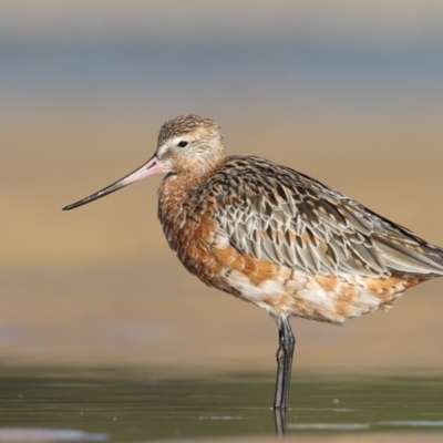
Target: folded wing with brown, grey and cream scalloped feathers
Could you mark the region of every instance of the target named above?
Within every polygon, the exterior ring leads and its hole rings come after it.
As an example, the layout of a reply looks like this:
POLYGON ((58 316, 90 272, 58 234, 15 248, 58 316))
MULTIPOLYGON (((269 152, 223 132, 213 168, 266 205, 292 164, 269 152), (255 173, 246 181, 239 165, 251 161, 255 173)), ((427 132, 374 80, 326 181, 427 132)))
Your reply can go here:
POLYGON ((321 183, 259 157, 231 156, 205 194, 239 253, 309 275, 443 275, 443 250, 321 183))

